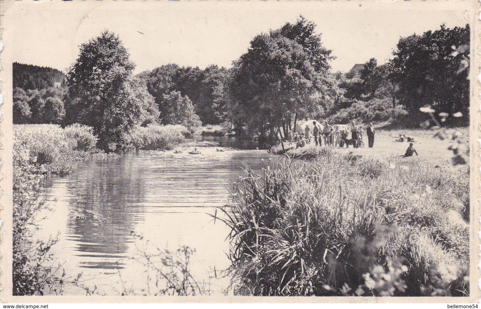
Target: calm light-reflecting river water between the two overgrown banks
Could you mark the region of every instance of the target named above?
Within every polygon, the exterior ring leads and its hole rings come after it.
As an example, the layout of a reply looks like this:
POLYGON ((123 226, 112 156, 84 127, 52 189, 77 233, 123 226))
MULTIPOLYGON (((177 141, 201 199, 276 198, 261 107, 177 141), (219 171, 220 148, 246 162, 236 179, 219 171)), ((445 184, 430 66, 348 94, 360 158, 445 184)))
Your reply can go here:
POLYGON ((230 265, 229 230, 208 214, 227 204, 228 189, 243 175, 243 164, 260 171, 261 159, 271 157, 253 148, 235 138, 199 136, 177 147, 182 154, 139 151, 80 163, 75 173, 45 189, 53 210, 38 237, 60 232, 53 253, 67 273, 83 272, 90 279, 86 285, 96 284, 106 294, 117 294, 127 284, 145 288, 144 268, 129 258, 137 248, 188 245, 196 250, 194 276, 209 282, 213 294, 222 293, 229 284, 219 271, 230 265), (188 154, 194 147, 202 154, 188 154), (74 210, 93 211, 105 220, 77 220, 71 216, 74 210))

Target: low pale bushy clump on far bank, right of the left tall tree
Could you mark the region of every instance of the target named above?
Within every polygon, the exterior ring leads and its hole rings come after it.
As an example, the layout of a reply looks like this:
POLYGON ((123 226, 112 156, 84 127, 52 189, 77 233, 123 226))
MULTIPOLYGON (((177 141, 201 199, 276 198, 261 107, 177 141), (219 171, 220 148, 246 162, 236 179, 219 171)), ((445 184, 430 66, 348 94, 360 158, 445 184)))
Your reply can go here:
POLYGON ((190 137, 190 131, 180 125, 138 127, 131 133, 131 145, 136 149, 172 149, 190 137))

